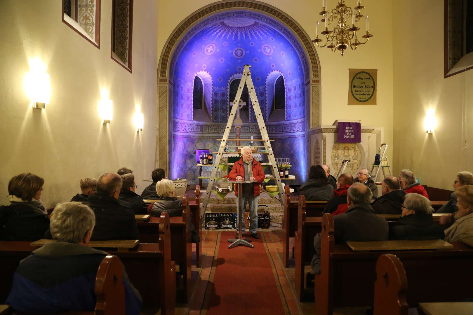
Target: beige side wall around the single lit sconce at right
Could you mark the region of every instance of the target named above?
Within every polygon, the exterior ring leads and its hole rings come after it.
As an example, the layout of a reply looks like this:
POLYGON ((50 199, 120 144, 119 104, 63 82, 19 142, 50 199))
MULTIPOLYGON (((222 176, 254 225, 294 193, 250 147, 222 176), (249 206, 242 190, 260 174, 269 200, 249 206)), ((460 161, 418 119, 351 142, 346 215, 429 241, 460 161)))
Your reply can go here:
POLYGON ((456 173, 473 166, 472 153, 463 150, 472 140, 473 70, 444 78, 443 6, 393 4, 394 16, 403 17, 394 31, 394 170, 409 168, 422 184, 452 190, 456 173), (429 108, 438 119, 431 135, 423 126, 429 108))

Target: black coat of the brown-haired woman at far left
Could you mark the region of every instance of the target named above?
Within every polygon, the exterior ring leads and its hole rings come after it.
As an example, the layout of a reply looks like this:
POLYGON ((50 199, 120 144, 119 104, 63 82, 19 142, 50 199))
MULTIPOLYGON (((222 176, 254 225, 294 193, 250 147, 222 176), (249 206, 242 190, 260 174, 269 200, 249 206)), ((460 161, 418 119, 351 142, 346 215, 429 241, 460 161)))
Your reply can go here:
POLYGON ((37 241, 49 229, 49 219, 25 204, 0 206, 0 239, 37 241))

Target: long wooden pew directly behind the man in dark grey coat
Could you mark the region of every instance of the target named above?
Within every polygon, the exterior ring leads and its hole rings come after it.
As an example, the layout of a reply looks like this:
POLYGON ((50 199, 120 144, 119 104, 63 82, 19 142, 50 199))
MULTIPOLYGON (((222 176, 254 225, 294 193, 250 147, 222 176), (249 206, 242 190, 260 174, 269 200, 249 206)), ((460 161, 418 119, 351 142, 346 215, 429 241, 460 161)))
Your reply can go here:
MULTIPOLYGON (((471 297, 473 272, 462 273, 461 283, 452 286, 449 276, 438 277, 442 270, 469 270, 473 247, 462 242, 447 243, 452 249, 353 251, 346 244, 335 244, 333 218, 324 214, 321 232, 321 273, 315 275, 317 315, 332 314, 333 307, 370 306, 374 299, 376 262, 380 255, 395 254, 403 262, 410 290, 408 305, 437 300, 455 301, 471 297), (412 279, 412 280, 411 280, 412 279), (429 288, 429 289, 425 289, 429 288)), ((386 241, 395 242, 395 241, 386 241)), ((416 242, 410 241, 411 245, 416 242)), ((432 240, 436 242, 437 240, 432 240)), ((362 242, 360 242, 362 243, 362 242)), ((365 242, 373 243, 373 242, 365 242)), ((445 242, 446 243, 446 242, 445 242)))

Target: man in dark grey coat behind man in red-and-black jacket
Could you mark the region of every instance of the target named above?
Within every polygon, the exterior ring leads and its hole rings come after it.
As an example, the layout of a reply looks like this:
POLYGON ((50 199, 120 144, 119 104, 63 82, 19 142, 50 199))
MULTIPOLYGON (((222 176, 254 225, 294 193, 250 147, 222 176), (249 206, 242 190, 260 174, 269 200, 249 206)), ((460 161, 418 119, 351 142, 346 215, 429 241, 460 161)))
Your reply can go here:
MULTIPOLYGON (((385 219, 377 216, 371 208, 372 193, 368 186, 354 183, 348 188, 348 210, 333 217, 336 244, 347 241, 382 241, 389 237, 389 227, 385 219)), ((314 273, 320 273, 320 233, 315 235, 315 255, 311 267, 314 273)))

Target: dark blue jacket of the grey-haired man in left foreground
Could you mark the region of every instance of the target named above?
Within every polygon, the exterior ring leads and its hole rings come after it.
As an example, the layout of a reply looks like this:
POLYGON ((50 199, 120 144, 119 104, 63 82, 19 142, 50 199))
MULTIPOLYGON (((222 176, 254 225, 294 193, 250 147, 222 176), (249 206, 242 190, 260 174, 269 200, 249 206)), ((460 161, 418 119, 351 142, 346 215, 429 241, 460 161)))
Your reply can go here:
MULTIPOLYGON (((6 304, 24 313, 93 311, 95 278, 107 253, 68 242, 51 242, 18 265, 6 304)), ((126 314, 140 314, 141 296, 123 269, 126 314)))

